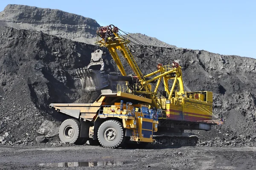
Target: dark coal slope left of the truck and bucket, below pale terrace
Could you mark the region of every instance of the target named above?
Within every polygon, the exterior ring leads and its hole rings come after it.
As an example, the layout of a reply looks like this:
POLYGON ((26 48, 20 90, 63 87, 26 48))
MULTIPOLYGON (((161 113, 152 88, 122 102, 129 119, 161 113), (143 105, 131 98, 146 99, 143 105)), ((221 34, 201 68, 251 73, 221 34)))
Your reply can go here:
POLYGON ((38 31, 0 27, 3 144, 30 143, 44 120, 64 119, 62 114, 49 110, 49 104, 79 98, 76 85, 80 86, 80 80, 75 78, 74 70, 89 64, 93 50, 92 45, 38 31))

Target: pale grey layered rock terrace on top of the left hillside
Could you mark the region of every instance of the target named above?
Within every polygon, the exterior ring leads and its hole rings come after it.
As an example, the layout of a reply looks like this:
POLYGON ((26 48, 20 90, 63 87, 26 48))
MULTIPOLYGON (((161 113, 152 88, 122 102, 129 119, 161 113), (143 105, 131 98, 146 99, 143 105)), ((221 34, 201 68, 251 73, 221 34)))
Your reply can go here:
POLYGON ((46 34, 93 44, 96 40, 96 20, 58 9, 8 5, 0 12, 3 26, 42 31, 46 34))

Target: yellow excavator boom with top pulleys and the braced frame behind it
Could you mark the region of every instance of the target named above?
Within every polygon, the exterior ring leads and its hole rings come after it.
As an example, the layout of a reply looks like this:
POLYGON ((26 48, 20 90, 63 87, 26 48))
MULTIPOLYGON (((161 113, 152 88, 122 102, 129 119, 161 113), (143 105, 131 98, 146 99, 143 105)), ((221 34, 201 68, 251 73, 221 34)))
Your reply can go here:
POLYGON ((162 66, 158 64, 157 71, 154 71, 153 73, 150 73, 147 75, 143 74, 143 72, 140 70, 139 66, 137 65, 137 62, 135 61, 133 55, 131 54, 131 51, 128 48, 128 44, 130 43, 130 41, 122 37, 120 34, 118 34, 118 31, 119 29, 113 25, 100 27, 97 30, 97 34, 102 38, 102 40, 97 41, 96 44, 100 45, 101 47, 108 48, 121 74, 123 76, 126 76, 123 63, 121 62, 121 59, 117 54, 117 51, 121 52, 125 61, 128 63, 130 68, 133 70, 135 76, 137 77, 138 81, 140 82, 140 85, 136 84, 135 87, 134 85, 129 86, 129 88, 134 94, 141 94, 147 98, 152 99, 151 107, 158 109, 158 108, 163 108, 163 105, 157 99, 157 93, 156 93, 160 85, 161 79, 163 79, 163 81, 165 82, 164 84, 165 91, 167 91, 167 93, 169 94, 169 97, 172 96, 172 93, 174 91, 177 81, 179 82, 178 83, 179 89, 180 89, 179 94, 183 93, 181 67, 177 63, 174 62, 173 65, 166 65, 166 66, 162 66), (174 77, 172 90, 169 91, 168 80, 173 79, 173 77, 170 77, 170 74, 172 73, 175 73, 176 75, 174 77), (154 91, 151 91, 150 82, 153 82, 153 81, 158 81, 158 83, 154 91))

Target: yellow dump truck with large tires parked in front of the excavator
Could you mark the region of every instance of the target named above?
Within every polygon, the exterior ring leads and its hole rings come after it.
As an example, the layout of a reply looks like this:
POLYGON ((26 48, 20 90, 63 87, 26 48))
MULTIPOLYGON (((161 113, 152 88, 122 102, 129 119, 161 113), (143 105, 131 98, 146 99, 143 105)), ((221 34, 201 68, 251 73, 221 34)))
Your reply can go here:
POLYGON ((73 117, 60 126, 62 142, 82 144, 95 139, 103 147, 116 148, 155 142, 157 112, 148 109, 150 103, 151 99, 119 92, 102 94, 93 103, 52 103, 50 107, 73 117))

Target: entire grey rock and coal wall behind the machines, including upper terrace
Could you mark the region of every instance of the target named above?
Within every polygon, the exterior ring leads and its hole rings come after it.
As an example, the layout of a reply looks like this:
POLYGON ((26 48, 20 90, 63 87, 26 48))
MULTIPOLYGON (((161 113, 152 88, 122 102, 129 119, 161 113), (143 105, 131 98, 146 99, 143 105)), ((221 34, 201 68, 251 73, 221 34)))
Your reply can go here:
MULTIPOLYGON (((7 6, 0 13, 0 20, 3 25, 14 27, 0 26, 0 136, 8 132, 9 136, 1 138, 5 144, 27 144, 35 140, 38 136, 36 130, 46 119, 65 119, 64 114, 49 109, 50 103, 92 102, 99 95, 95 92, 91 94, 95 96, 84 97, 80 80, 74 72, 76 68, 89 64, 95 46, 49 34, 63 37, 66 31, 67 35, 74 35, 74 30, 65 30, 62 25, 57 29, 56 24, 99 25, 95 20, 59 10, 17 5, 7 6), (40 15, 42 13, 44 15, 40 15), (26 28, 24 24, 35 27, 31 30, 16 29, 17 26, 26 28), (55 26, 47 27, 47 24, 55 26), (44 30, 35 31, 41 26, 49 29, 49 34, 44 30)), ((141 34, 134 34, 136 36, 141 34)), ((140 38, 143 38, 143 43, 154 41, 153 46, 132 47, 144 74, 156 70, 163 59, 176 61, 183 67, 186 91, 214 92, 214 114, 219 116, 222 113, 225 124, 213 127, 210 132, 196 132, 201 139, 215 140, 222 145, 252 146, 248 142, 254 142, 256 130, 256 59, 164 46, 164 43, 144 35, 140 38), (156 44, 158 46, 154 46, 156 44)), ((106 65, 108 72, 119 73, 110 54, 107 54, 106 65)), ((128 65, 124 67, 128 74, 132 73, 128 65)), ((214 145, 215 142, 206 143, 214 145)))

